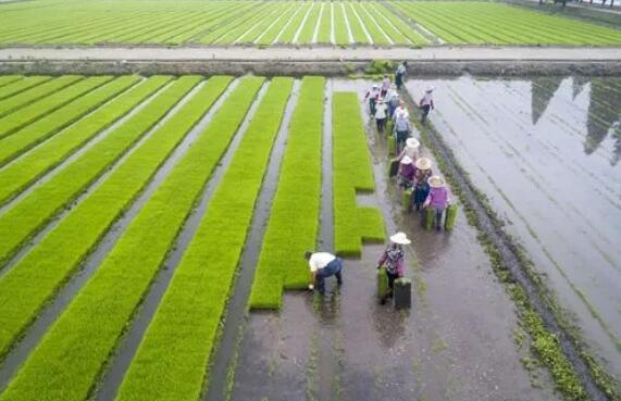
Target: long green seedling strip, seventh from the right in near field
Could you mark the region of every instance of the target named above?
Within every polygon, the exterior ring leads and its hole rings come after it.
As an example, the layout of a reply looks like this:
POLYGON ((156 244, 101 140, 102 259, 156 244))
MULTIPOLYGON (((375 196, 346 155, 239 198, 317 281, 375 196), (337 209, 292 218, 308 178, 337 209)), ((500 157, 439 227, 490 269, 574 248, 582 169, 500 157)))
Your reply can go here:
POLYGON ((129 113, 170 79, 163 76, 147 79, 0 170, 0 204, 15 197, 98 133, 129 113))

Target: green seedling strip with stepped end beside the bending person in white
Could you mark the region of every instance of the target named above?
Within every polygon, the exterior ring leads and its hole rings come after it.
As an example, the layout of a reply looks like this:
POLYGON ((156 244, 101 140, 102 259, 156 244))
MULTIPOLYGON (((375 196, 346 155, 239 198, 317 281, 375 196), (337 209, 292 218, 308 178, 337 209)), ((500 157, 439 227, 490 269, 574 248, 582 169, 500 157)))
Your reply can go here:
POLYGON ((284 288, 308 286, 303 252, 315 248, 319 230, 324 86, 324 78, 302 80, 250 293, 252 309, 280 309, 284 288))

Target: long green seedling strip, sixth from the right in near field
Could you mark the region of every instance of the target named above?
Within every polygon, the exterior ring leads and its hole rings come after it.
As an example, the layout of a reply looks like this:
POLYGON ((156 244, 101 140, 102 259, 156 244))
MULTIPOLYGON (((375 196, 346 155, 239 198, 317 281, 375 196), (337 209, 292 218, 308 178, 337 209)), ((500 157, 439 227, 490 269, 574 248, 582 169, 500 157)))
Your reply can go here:
POLYGON ((147 134, 185 95, 186 86, 186 82, 173 83, 139 113, 0 214, 0 266, 147 134))

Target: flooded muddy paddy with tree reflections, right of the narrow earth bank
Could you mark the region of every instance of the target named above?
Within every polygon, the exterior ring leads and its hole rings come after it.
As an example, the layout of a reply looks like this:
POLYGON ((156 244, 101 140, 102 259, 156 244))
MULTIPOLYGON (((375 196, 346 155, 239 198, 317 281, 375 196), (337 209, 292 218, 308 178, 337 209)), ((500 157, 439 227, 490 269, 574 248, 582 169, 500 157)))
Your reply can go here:
POLYGON ((550 77, 433 85, 431 121, 621 376, 621 79, 550 77))

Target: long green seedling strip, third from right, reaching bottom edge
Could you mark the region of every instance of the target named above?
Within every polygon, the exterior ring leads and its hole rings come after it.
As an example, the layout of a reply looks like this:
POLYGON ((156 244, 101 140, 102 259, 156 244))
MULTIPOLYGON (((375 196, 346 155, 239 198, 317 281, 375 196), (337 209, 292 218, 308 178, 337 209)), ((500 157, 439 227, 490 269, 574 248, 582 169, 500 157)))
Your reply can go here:
POLYGON ((198 400, 207 386, 209 359, 291 84, 291 78, 272 80, 175 270, 116 400, 198 400))

